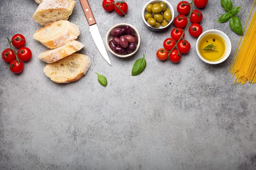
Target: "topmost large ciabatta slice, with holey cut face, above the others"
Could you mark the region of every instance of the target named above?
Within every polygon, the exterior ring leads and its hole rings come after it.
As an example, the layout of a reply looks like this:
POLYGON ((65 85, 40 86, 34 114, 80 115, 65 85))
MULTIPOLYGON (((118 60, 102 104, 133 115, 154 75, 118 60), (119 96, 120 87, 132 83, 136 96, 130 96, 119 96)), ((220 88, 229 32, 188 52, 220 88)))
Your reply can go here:
POLYGON ((33 14, 33 18, 43 26, 54 21, 67 20, 75 5, 75 0, 43 0, 33 14))

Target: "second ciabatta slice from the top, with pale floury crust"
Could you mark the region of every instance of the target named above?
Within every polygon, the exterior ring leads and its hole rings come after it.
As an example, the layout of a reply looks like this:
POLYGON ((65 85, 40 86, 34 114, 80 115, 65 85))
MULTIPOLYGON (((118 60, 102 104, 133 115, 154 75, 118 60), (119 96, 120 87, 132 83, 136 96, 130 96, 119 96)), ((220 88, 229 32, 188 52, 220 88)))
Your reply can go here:
POLYGON ((59 20, 50 23, 33 34, 33 38, 48 49, 56 49, 78 38, 79 27, 68 20, 59 20))

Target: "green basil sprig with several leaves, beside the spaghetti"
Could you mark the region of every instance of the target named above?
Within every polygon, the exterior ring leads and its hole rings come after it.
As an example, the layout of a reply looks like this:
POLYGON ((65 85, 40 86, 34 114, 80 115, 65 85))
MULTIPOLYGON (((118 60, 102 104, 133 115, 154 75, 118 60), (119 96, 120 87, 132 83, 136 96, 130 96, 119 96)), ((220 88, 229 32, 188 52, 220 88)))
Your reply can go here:
POLYGON ((236 6, 233 8, 233 4, 231 0, 220 0, 220 3, 224 10, 227 12, 225 14, 222 14, 217 22, 223 23, 229 20, 229 25, 232 31, 234 31, 236 34, 243 35, 243 29, 242 24, 239 19, 239 17, 236 17, 238 12, 240 11, 241 7, 236 6))

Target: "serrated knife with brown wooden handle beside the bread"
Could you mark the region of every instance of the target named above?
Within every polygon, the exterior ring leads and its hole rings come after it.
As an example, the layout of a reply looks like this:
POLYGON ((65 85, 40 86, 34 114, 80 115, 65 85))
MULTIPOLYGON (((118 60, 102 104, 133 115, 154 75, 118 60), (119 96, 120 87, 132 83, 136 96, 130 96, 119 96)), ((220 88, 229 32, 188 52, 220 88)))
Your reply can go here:
POLYGON ((110 59, 108 57, 105 45, 99 33, 98 26, 93 16, 88 0, 80 0, 80 4, 82 6, 83 12, 89 24, 89 32, 93 37, 93 41, 95 42, 98 51, 100 52, 102 57, 108 62, 108 64, 111 65, 110 59))

